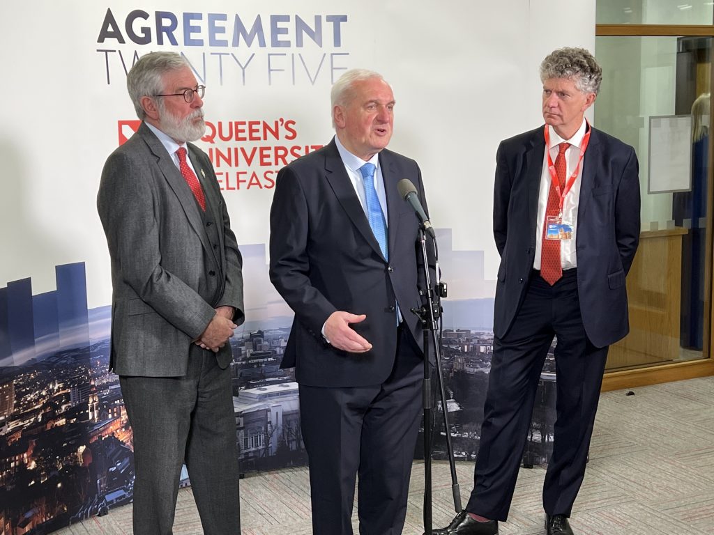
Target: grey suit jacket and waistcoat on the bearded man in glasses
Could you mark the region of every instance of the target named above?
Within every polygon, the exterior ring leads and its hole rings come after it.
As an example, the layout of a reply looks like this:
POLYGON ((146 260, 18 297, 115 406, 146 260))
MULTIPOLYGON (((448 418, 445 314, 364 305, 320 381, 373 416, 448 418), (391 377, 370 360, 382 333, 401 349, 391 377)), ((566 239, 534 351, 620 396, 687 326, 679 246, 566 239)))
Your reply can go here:
MULTIPOLYGON (((120 375, 186 374, 188 350, 214 307, 231 305, 233 321, 244 319, 242 259, 226 204, 208 156, 191 143, 188 154, 205 215, 146 124, 104 164, 97 208, 114 288, 110 366, 120 375), (218 243, 210 243, 206 225, 218 225, 218 243)), ((216 357, 227 367, 230 346, 216 357)))

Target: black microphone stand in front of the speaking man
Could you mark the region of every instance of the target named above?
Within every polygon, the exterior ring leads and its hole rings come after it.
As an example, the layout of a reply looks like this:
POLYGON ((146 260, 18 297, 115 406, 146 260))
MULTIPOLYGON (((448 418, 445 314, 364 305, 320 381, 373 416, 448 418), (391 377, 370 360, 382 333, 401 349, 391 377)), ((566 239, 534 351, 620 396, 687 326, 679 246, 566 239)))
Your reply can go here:
MULTIPOLYGON (((431 287, 431 277, 429 277, 428 255, 426 253, 426 232, 424 225, 419 225, 419 243, 421 243, 421 254, 423 258, 423 275, 426 283, 426 305, 421 308, 412 308, 411 311, 421 320, 424 333, 424 383, 423 383, 423 414, 424 414, 424 534, 432 533, 432 505, 431 505, 431 449, 433 431, 433 409, 434 399, 431 388, 431 368, 429 367, 429 337, 434 345, 434 362, 436 364, 436 382, 441 398, 441 414, 443 417, 444 431, 446 435, 446 451, 448 453, 449 467, 451 468, 451 491, 453 494, 454 509, 461 512, 461 491, 458 486, 456 475, 456 460, 453 455, 451 445, 451 427, 448 424, 448 409, 446 407, 446 388, 443 382, 443 371, 441 367, 441 344, 437 335, 437 320, 441 318, 441 297, 446 297, 446 284, 437 282, 435 287, 431 287)), ((436 238, 433 238, 434 258, 438 270, 438 248, 436 238)), ((438 276, 438 275, 437 275, 438 276)))

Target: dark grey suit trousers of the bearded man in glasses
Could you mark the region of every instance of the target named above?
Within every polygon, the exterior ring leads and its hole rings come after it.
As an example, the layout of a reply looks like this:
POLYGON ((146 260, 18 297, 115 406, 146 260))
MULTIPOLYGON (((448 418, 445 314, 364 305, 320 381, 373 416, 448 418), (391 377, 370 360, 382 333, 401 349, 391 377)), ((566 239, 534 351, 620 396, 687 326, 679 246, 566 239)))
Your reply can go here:
POLYGON ((119 377, 134 432, 134 535, 171 535, 186 462, 206 535, 240 535, 230 368, 192 346, 183 377, 119 377))

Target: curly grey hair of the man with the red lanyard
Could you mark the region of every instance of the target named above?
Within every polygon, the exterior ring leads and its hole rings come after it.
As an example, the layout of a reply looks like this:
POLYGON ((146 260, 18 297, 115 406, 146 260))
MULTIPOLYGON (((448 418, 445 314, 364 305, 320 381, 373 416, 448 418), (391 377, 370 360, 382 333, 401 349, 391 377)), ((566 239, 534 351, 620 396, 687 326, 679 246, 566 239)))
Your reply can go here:
POLYGON ((587 50, 565 47, 551 52, 540 63, 540 81, 548 78, 570 78, 578 91, 597 95, 603 69, 587 50))

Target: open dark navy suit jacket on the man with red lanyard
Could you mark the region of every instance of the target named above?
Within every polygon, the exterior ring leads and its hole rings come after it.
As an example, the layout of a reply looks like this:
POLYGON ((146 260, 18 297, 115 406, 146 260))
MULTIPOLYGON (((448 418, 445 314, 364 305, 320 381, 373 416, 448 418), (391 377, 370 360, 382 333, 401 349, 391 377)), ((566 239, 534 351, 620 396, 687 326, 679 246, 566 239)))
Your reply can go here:
MULTIPOLYGON (((503 337, 516 317, 535 257, 543 126, 502 141, 496 156, 493 235, 501 254, 493 331, 503 337)), ((585 332, 596 347, 629 331, 625 275, 640 237, 635 150, 592 128, 583 160, 575 255, 585 332)))

